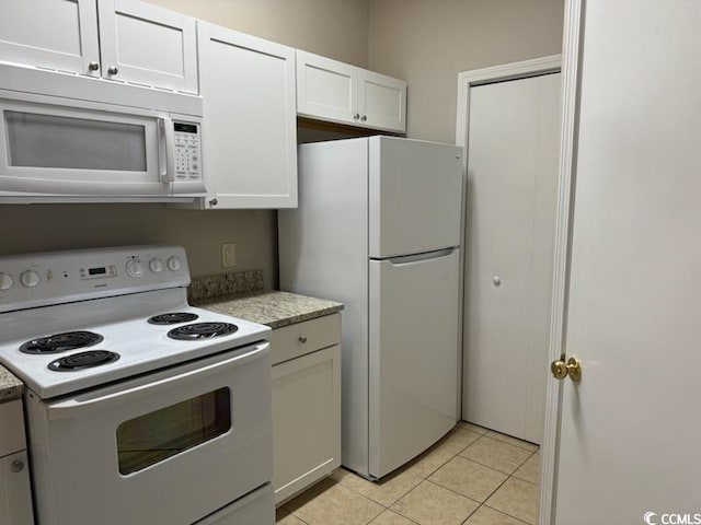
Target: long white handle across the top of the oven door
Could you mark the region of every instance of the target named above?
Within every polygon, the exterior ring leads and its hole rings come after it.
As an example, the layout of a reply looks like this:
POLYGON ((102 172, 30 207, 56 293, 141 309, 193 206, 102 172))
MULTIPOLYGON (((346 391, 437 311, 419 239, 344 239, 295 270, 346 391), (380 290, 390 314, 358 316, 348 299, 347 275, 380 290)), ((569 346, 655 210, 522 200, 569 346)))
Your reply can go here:
POLYGON ((223 369, 230 366, 242 366, 251 361, 267 357, 269 355, 268 348, 269 343, 267 341, 261 341, 252 345, 250 351, 243 354, 233 355, 225 359, 223 361, 203 359, 202 361, 185 364, 183 368, 188 370, 176 375, 170 375, 172 371, 154 372, 151 375, 145 375, 138 380, 127 382, 127 385, 125 385, 126 388, 120 388, 119 385, 115 385, 102 390, 80 394, 70 399, 48 405, 47 418, 51 421, 57 419, 74 418, 95 410, 103 410, 115 405, 135 402, 164 386, 176 383, 203 381, 207 377, 220 374, 223 369), (134 385, 134 383, 138 384, 134 385), (129 384, 133 386, 128 386, 129 384), (105 393, 105 390, 108 393, 105 393))

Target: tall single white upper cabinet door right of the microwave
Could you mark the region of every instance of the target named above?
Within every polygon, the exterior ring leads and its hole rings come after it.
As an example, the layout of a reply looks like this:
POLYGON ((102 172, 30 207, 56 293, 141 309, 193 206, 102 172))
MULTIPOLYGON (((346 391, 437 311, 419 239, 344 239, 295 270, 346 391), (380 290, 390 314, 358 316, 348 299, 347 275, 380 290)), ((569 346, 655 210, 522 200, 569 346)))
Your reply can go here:
POLYGON ((297 206, 295 49, 199 23, 205 208, 297 206))

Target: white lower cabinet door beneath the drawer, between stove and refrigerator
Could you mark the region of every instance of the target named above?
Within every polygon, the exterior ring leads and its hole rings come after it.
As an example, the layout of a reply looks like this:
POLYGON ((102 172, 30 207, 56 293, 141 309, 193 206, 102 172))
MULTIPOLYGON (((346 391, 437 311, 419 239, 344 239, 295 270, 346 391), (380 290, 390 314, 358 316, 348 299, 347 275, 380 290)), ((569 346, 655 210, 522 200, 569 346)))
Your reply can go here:
POLYGON ((273 366, 275 502, 341 464, 341 347, 273 366))

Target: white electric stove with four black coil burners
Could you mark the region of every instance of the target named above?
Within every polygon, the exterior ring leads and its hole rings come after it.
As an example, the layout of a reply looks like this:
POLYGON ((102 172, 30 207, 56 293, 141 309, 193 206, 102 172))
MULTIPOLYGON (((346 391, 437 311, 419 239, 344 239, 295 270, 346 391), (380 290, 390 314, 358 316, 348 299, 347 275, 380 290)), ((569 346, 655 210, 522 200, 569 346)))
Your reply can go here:
POLYGON ((269 328, 188 282, 172 246, 0 258, 42 525, 274 523, 269 328))

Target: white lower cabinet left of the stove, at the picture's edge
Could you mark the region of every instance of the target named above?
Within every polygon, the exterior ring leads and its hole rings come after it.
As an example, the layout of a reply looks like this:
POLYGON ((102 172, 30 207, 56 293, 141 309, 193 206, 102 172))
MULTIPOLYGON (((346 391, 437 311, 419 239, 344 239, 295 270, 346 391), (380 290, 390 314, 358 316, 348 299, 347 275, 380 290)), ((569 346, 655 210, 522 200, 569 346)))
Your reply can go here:
POLYGON ((0 405, 0 523, 34 523, 21 399, 0 405))

